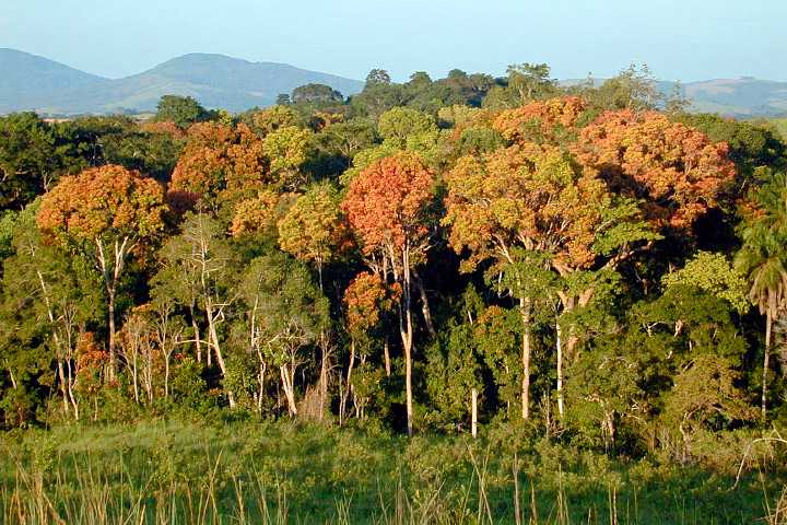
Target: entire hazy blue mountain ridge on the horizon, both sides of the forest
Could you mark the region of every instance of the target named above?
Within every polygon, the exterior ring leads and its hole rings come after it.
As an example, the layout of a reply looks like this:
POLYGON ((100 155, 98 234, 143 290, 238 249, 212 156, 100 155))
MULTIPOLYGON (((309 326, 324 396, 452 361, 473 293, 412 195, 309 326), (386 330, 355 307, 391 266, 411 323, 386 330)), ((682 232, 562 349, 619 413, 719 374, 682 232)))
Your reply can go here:
MULTIPOLYGON (((328 84, 352 95, 363 82, 289 63, 251 61, 221 54, 189 52, 140 73, 108 79, 46 57, 0 48, 0 114, 44 115, 151 112, 162 95, 193 96, 209 108, 242 112, 275 102, 280 93, 307 83, 328 84)), ((597 82, 603 79, 596 79, 597 82)), ((564 84, 582 80, 561 81, 564 84)), ((658 81, 670 93, 677 82, 658 81)), ((787 115, 787 82, 753 77, 681 83, 694 112, 737 118, 787 115)))

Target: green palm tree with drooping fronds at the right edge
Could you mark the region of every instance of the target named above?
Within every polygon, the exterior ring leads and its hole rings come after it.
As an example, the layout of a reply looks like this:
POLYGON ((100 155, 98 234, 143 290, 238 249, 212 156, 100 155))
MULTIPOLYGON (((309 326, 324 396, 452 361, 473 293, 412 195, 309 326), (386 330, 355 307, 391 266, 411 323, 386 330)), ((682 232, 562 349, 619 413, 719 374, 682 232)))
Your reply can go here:
POLYGON ((756 212, 741 230, 736 268, 749 279, 749 300, 765 316, 762 416, 766 415, 767 374, 774 320, 787 303, 787 177, 777 174, 756 197, 756 212))

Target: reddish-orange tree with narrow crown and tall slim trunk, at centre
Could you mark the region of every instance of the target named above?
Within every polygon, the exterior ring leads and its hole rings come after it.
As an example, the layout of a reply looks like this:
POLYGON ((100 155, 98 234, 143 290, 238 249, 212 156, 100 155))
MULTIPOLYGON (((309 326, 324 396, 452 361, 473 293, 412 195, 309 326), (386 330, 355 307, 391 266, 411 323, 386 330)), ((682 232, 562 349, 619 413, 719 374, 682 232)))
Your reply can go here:
POLYGON ((433 229, 435 176, 414 153, 372 163, 351 183, 342 205, 369 266, 401 285, 399 332, 404 350, 408 434, 412 435, 412 271, 425 260, 433 229))

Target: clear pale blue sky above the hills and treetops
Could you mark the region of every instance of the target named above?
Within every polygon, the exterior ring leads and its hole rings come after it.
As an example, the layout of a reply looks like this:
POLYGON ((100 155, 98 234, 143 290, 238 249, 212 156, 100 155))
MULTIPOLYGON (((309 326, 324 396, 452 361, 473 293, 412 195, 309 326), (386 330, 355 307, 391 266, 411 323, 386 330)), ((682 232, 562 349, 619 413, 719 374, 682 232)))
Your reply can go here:
MULTIPOLYGON (((0 47, 122 77, 186 52, 355 79, 379 67, 787 80, 787 0, 0 0, 0 47)), ((2 72, 0 72, 2 74, 2 72)))

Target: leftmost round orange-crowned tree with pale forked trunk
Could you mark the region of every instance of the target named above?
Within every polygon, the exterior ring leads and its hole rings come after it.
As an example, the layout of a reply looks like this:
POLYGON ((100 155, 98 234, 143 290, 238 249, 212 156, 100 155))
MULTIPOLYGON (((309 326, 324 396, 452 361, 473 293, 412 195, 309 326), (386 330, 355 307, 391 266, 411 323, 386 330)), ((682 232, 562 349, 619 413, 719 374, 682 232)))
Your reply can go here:
POLYGON ((63 177, 42 199, 42 232, 93 261, 104 281, 109 331, 109 372, 115 369, 115 305, 126 264, 164 232, 164 189, 150 177, 118 165, 63 177))

